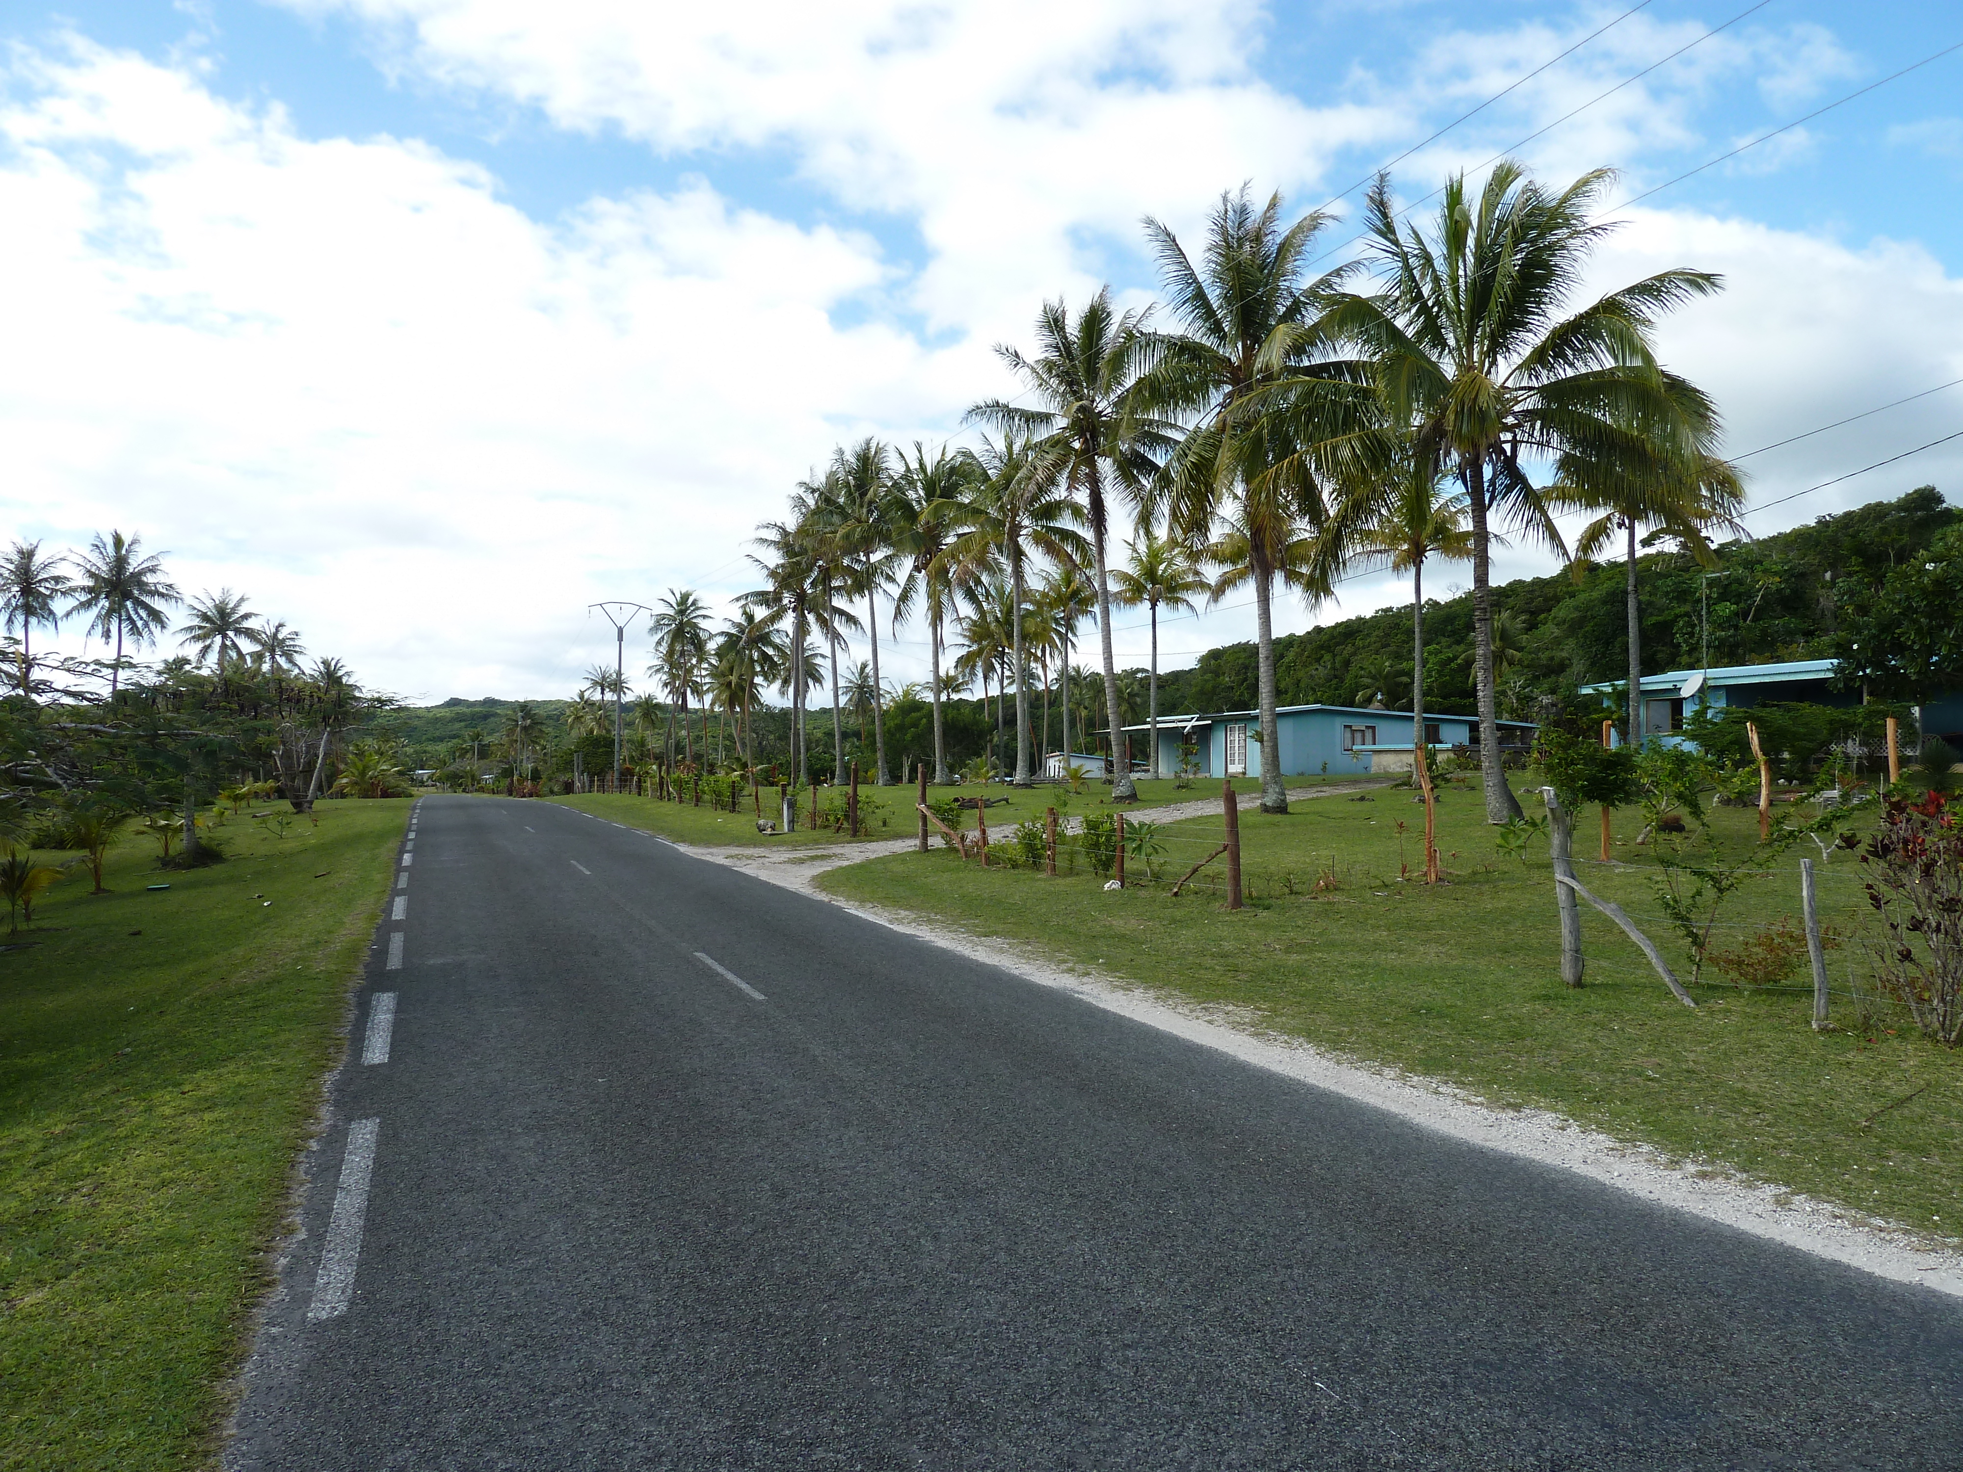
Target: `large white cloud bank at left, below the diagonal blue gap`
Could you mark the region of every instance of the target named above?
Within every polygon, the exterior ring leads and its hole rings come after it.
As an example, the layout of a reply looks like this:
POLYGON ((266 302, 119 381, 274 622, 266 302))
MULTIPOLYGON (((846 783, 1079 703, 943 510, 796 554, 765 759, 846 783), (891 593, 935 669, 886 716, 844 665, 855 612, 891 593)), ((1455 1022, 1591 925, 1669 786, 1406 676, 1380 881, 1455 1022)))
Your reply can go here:
POLYGON ((730 563, 834 436, 983 371, 836 328, 874 245, 707 184, 546 228, 82 41, 18 61, 0 137, 14 530, 141 530, 398 689, 563 681, 589 601, 730 563))

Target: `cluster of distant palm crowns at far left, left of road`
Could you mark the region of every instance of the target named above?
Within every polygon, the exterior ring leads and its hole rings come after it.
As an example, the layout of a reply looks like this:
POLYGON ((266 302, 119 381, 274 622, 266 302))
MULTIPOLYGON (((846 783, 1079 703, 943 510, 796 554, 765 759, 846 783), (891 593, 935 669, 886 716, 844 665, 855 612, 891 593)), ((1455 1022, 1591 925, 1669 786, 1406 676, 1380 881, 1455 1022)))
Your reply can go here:
MULTIPOLYGON (((20 636, 16 683, 26 697, 33 695, 35 628, 59 632, 65 620, 80 618, 90 638, 114 642, 114 699, 126 648, 155 644, 171 628, 177 606, 185 608, 179 644, 190 652, 192 665, 275 681, 302 673, 306 648, 296 630, 255 614, 232 589, 186 601, 165 577, 163 559, 143 552, 141 536, 96 534, 86 552, 71 555, 43 552, 39 542, 16 542, 0 561, 0 624, 20 636)), ((324 683, 345 683, 340 661, 328 659, 322 669, 328 671, 324 683)))

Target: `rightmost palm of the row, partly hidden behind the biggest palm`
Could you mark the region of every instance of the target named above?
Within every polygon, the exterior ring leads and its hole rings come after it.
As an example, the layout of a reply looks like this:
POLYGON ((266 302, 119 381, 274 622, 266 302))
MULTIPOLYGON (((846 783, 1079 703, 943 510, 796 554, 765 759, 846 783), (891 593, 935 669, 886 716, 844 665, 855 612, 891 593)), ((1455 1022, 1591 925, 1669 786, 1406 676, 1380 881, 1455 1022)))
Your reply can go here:
POLYGON ((1647 526, 1651 536, 1676 538, 1702 567, 1716 567, 1718 553, 1706 540, 1706 528, 1743 532, 1739 510, 1745 487, 1737 467, 1718 455, 1702 455, 1692 475, 1672 475, 1667 467, 1651 467, 1649 475, 1616 475, 1584 455, 1565 455, 1555 469, 1555 485, 1547 499, 1557 506, 1600 510, 1574 538, 1574 579, 1588 573, 1588 563, 1608 548, 1619 532, 1625 540, 1627 616, 1629 616, 1629 730, 1631 746, 1641 746, 1643 726, 1643 612, 1635 587, 1637 534, 1647 526), (1610 473, 1604 475, 1602 471, 1610 473), (1655 473, 1663 471, 1663 473, 1655 473))

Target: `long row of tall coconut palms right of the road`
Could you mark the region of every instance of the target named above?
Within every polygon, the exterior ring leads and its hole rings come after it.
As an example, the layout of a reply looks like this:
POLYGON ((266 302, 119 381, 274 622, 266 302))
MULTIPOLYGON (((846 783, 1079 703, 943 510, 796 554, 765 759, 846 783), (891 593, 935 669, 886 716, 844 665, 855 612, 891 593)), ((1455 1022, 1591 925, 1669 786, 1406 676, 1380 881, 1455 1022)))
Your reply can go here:
MULTIPOLYGON (((1423 569, 1468 559, 1486 809, 1494 822, 1515 816, 1500 765, 1494 544, 1519 536, 1576 565, 1623 544, 1639 681, 1639 538, 1672 536, 1708 559, 1706 530, 1735 526, 1741 504, 1737 471, 1716 453, 1716 406, 1655 353, 1659 318, 1720 281, 1672 269, 1580 298, 1588 255, 1610 230, 1596 218, 1610 179, 1596 171, 1557 190, 1504 161, 1478 188, 1447 181, 1417 224, 1380 177, 1360 257, 1319 275, 1333 218, 1288 224, 1280 196, 1256 206, 1245 186, 1223 194, 1197 253, 1146 220, 1160 306, 1119 310, 1109 289, 1076 312, 1046 302, 1031 351, 997 347, 1021 393, 968 412, 983 432, 976 447, 840 447, 797 485, 789 514, 760 528, 752 561, 764 587, 744 608, 787 634, 779 679, 793 740, 821 673, 813 652, 832 675, 838 732, 842 652, 864 638, 875 777, 887 781, 879 628, 921 614, 936 779, 948 775, 948 677, 964 687, 964 675, 993 675, 999 695, 1013 685, 1013 779, 1027 783, 1031 663, 1056 654, 1068 669, 1074 632, 1091 618, 1113 797, 1131 797, 1115 606, 1150 608, 1156 724, 1158 612, 1248 591, 1260 740, 1278 752, 1278 587, 1313 608, 1345 577, 1388 565, 1413 583, 1421 744, 1423 569), (1594 514, 1572 553, 1555 522, 1568 510, 1594 514), (1135 528, 1125 567, 1111 565, 1119 518, 1135 528)), ((1639 701, 1629 705, 1639 740, 1639 701)), ((1156 730, 1150 752, 1156 763, 1156 730)), ((805 760, 791 756, 793 767, 805 760)), ((1272 760, 1262 811, 1288 811, 1272 760)))

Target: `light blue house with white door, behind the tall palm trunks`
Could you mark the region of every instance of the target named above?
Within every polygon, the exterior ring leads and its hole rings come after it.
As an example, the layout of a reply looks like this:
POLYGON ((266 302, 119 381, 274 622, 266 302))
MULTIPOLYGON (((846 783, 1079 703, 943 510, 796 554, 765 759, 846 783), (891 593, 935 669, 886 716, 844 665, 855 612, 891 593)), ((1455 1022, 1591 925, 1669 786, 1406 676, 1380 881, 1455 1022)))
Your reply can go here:
MULTIPOLYGON (((1284 705, 1276 710, 1284 777, 1309 777, 1321 771, 1409 771, 1411 712, 1356 705, 1284 705)), ((1131 736, 1135 763, 1148 763, 1150 722, 1125 726, 1131 736)), ((1425 740, 1431 746, 1476 746, 1474 716, 1427 716, 1425 740)), ((1525 748, 1533 740, 1533 724, 1502 720, 1500 744, 1525 748)), ((1217 710, 1213 714, 1182 714, 1158 718, 1158 769, 1180 769, 1180 748, 1194 746, 1203 777, 1258 777, 1262 773, 1260 712, 1217 710)))

